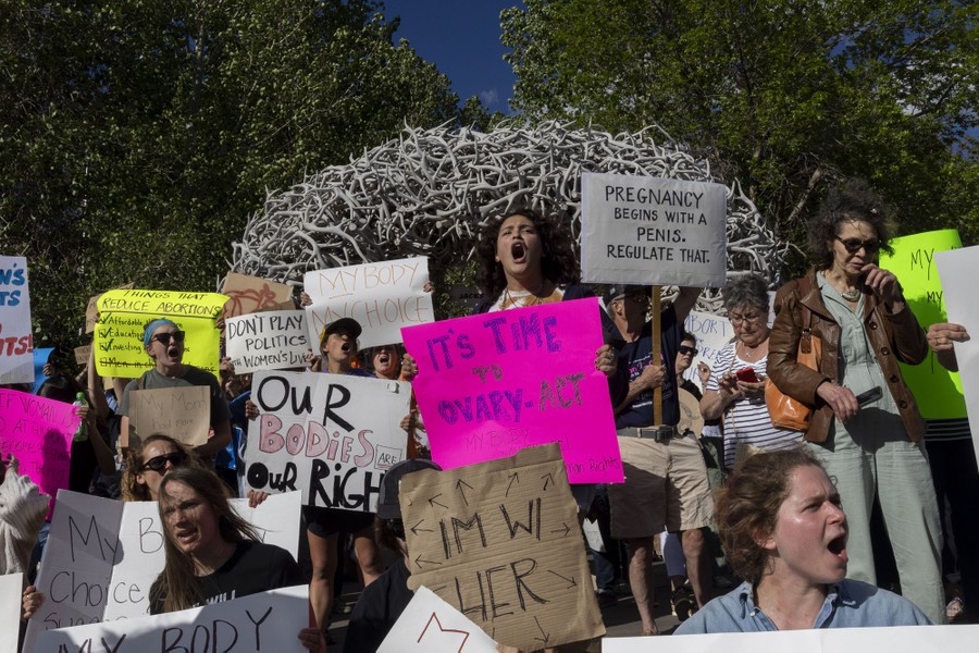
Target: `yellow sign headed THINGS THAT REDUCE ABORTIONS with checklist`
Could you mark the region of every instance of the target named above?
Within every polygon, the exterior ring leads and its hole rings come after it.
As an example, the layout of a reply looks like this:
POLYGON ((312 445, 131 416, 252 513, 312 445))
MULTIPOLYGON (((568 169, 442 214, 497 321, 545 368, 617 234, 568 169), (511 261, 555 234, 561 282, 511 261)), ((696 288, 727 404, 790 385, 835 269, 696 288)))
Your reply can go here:
POLYGON ((96 369, 102 377, 135 379, 153 367, 142 345, 146 325, 172 320, 186 334, 183 362, 218 375, 219 333, 214 320, 227 297, 216 293, 109 291, 99 297, 95 329, 96 369))

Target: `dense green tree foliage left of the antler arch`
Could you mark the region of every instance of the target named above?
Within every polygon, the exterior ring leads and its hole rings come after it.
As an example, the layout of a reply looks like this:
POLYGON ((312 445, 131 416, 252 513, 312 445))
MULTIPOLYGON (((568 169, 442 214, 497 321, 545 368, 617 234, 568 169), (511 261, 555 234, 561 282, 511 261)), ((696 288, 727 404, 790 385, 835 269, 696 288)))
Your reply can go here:
POLYGON ((213 291, 267 192, 457 119, 380 8, 0 0, 0 243, 28 257, 38 344, 75 345, 129 281, 213 291))

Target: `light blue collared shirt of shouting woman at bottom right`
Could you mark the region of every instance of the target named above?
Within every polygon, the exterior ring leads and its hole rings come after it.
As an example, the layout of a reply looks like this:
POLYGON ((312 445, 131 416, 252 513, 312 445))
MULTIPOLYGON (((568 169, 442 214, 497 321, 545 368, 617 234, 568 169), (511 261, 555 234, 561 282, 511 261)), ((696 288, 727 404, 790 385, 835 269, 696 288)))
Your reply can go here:
MULTIPOLYGON (((931 620, 907 599, 859 580, 844 579, 830 586, 813 628, 929 625, 931 620)), ((766 630, 778 628, 755 605, 751 583, 743 582, 705 605, 681 624, 674 634, 766 630)))

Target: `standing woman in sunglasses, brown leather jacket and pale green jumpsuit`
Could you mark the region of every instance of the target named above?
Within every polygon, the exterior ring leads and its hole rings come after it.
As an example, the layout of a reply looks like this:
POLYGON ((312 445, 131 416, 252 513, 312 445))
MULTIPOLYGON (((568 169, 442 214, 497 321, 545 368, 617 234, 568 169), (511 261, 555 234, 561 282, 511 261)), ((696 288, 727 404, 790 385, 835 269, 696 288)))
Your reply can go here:
POLYGON ((870 531, 877 498, 902 593, 941 624, 941 526, 925 422, 899 366, 925 360, 928 343, 897 279, 877 266, 889 236, 884 206, 865 182, 830 192, 809 230, 816 266, 776 296, 768 373, 814 410, 805 439, 843 497, 847 578, 877 582, 870 531), (807 316, 822 342, 816 370, 796 360, 807 316))

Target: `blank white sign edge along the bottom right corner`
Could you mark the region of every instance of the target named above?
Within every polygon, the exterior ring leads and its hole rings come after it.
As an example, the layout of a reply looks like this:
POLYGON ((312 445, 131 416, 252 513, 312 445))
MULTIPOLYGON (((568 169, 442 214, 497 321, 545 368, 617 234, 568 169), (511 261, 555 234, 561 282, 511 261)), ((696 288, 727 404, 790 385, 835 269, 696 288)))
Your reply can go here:
MULTIPOLYGON (((979 626, 893 626, 890 628, 820 628, 770 632, 677 634, 656 640, 656 653, 758 653, 792 651, 887 651, 888 653, 947 653, 971 651, 979 626), (969 642, 972 642, 971 644, 969 642)), ((648 653, 647 637, 607 637, 602 653, 648 653)))

